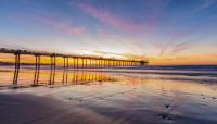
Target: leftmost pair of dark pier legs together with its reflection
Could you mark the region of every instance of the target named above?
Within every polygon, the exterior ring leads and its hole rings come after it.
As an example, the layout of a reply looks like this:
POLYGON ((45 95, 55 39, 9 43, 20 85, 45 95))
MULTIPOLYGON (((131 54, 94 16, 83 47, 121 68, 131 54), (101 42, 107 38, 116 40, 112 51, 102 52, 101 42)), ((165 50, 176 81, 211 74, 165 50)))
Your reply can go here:
POLYGON ((20 60, 21 60, 21 54, 20 53, 14 53, 15 54, 15 71, 14 71, 14 78, 13 78, 13 87, 17 87, 17 82, 18 82, 18 73, 20 73, 20 60))

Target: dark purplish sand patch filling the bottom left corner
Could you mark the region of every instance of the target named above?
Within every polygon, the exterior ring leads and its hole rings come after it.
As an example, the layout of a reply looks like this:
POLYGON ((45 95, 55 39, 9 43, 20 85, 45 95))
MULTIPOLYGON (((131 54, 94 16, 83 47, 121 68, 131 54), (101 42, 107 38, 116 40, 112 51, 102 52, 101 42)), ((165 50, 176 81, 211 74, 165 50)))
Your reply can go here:
POLYGON ((0 95, 1 124, 103 124, 111 123, 93 111, 60 100, 33 95, 0 95))

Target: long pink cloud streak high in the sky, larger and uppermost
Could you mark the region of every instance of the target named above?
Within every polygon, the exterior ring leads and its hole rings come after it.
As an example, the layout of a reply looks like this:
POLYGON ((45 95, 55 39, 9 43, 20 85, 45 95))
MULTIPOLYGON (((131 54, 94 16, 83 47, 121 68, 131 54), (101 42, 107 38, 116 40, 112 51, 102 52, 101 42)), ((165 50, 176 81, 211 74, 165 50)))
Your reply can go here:
POLYGON ((119 28, 122 30, 135 30, 142 29, 145 27, 145 25, 142 24, 126 22, 123 18, 113 15, 110 11, 99 10, 90 4, 78 4, 78 7, 82 9, 86 13, 88 13, 90 16, 99 20, 100 22, 119 28))

